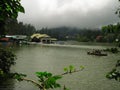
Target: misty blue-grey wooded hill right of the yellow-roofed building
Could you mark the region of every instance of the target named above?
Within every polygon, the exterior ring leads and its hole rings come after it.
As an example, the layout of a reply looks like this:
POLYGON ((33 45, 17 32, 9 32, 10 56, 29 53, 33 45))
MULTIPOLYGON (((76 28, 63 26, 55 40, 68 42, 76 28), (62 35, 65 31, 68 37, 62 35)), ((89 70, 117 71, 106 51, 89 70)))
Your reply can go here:
POLYGON ((45 33, 58 40, 77 40, 83 42, 94 41, 96 36, 101 35, 99 29, 78 29, 71 27, 42 28, 37 30, 37 33, 45 33))

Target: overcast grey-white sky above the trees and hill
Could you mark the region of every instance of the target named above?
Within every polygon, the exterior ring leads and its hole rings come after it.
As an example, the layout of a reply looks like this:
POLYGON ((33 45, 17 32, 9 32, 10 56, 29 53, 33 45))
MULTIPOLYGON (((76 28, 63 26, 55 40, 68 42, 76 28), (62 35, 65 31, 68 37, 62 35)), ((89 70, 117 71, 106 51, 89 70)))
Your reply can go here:
POLYGON ((42 27, 99 28, 119 21, 118 0, 21 0, 18 21, 42 27))

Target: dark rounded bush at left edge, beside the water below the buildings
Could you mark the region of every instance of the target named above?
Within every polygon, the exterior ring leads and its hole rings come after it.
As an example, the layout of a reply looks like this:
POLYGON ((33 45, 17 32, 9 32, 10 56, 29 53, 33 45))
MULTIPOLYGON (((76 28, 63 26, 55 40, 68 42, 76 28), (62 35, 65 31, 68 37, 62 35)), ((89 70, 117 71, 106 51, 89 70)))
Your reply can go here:
POLYGON ((9 73, 10 67, 15 64, 16 56, 9 48, 0 48, 0 70, 9 73))

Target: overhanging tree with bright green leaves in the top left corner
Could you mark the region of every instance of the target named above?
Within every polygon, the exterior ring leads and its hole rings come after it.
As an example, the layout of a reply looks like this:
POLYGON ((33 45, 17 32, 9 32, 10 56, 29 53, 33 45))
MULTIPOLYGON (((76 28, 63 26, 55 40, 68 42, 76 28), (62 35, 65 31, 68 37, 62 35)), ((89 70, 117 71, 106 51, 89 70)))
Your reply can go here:
POLYGON ((0 35, 5 35, 5 24, 9 18, 16 19, 18 12, 24 13, 21 0, 0 0, 0 35))

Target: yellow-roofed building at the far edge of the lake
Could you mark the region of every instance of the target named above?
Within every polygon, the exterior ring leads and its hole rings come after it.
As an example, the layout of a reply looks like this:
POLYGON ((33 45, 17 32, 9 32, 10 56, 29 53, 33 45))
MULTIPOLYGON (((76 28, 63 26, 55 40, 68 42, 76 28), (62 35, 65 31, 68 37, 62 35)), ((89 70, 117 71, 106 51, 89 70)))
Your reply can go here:
POLYGON ((55 43, 56 40, 57 40, 56 38, 51 38, 47 34, 33 34, 31 36, 32 42, 41 42, 41 43, 50 44, 50 43, 55 43))

